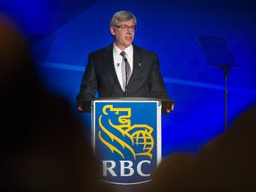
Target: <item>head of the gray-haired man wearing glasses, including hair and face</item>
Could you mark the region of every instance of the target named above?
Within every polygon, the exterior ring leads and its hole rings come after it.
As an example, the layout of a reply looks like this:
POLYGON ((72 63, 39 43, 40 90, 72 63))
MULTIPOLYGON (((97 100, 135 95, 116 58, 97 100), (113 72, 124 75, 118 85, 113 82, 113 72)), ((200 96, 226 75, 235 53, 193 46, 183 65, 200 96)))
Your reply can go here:
POLYGON ((132 44, 137 26, 136 17, 132 12, 116 12, 110 20, 110 32, 115 36, 116 46, 123 50, 132 44))

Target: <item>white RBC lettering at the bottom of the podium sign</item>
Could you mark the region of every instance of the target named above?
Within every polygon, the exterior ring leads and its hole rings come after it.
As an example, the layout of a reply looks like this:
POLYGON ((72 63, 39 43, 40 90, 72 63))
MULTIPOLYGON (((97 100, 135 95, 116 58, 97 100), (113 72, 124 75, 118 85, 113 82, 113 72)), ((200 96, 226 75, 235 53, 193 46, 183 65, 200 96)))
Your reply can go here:
POLYGON ((113 177, 131 177, 134 173, 138 173, 141 177, 149 177, 151 174, 142 171, 143 164, 150 164, 150 161, 140 161, 137 165, 133 164, 132 161, 119 161, 120 169, 116 168, 116 162, 112 160, 102 161, 102 175, 107 177, 110 174, 113 177), (119 170, 119 172, 118 172, 119 170))

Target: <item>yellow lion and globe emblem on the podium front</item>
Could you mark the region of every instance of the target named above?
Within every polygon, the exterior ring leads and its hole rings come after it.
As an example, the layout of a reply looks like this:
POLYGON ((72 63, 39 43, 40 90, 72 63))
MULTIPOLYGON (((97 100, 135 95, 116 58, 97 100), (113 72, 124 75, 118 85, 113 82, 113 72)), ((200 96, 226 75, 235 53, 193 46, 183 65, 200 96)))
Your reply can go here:
POLYGON ((100 141, 112 152, 117 153, 123 159, 127 151, 136 160, 138 156, 153 157, 154 138, 153 128, 148 124, 132 124, 132 108, 114 108, 113 105, 105 105, 99 117, 100 141), (109 115, 115 115, 109 118, 109 115), (105 121, 103 121, 103 118, 105 121))

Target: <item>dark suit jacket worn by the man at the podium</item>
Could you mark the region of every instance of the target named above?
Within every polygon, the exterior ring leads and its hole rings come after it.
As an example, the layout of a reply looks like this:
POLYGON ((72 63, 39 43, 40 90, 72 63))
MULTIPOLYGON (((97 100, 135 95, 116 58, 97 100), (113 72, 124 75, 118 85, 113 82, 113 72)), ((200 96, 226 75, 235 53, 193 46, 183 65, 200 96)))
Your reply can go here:
MULTIPOLYGON (((128 97, 168 100, 156 53, 133 44, 133 71, 127 90, 128 97)), ((116 98, 126 95, 116 76, 113 44, 89 54, 80 92, 76 97, 78 104, 94 98, 96 92, 101 98, 116 98)))

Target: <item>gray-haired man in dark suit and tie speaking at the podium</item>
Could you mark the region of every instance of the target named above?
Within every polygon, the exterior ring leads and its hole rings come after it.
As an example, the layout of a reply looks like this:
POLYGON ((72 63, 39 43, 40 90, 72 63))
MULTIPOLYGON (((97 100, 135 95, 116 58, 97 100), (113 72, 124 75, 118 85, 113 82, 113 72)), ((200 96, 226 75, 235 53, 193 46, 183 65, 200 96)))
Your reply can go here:
MULTIPOLYGON (((169 100, 160 73, 156 53, 132 44, 137 28, 132 12, 116 12, 110 20, 113 44, 89 54, 87 66, 77 94, 79 112, 91 110, 96 92, 100 98, 156 98, 169 100)), ((171 103, 163 103, 163 112, 171 111, 171 103)))

